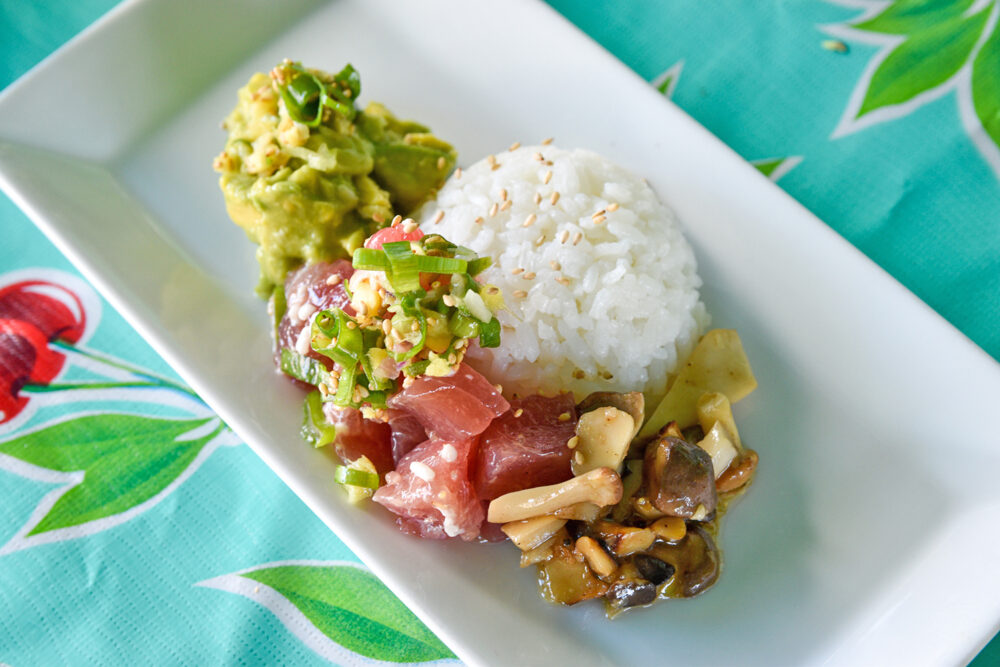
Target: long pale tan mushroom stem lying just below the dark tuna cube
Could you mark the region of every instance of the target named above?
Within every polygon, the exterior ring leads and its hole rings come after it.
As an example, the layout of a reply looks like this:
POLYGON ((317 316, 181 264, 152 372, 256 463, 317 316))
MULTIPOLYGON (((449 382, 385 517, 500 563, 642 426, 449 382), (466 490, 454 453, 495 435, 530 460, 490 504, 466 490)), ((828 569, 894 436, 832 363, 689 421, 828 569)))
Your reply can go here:
POLYGON ((491 523, 507 523, 552 514, 577 503, 606 507, 614 505, 621 497, 622 481, 618 473, 610 468, 598 468, 559 484, 500 496, 490 502, 486 516, 491 523))

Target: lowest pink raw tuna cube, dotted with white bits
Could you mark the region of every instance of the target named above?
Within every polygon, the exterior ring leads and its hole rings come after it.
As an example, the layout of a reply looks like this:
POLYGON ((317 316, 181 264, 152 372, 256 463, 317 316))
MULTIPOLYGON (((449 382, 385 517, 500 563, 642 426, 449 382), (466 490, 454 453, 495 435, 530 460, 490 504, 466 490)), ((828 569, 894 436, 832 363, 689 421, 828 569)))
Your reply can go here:
POLYGON ((399 515, 405 533, 476 539, 486 514, 469 481, 475 446, 476 438, 420 443, 385 476, 373 500, 399 515))

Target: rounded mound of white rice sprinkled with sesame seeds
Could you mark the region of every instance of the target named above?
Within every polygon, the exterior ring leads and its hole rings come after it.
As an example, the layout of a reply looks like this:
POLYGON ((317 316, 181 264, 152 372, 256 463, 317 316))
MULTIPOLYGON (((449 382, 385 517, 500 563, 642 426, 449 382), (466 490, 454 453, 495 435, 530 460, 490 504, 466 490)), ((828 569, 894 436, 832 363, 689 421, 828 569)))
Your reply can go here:
POLYGON ((707 325, 673 213, 591 151, 490 156, 453 174, 420 219, 425 233, 493 258, 481 279, 503 290, 501 344, 468 360, 508 396, 643 391, 658 401, 707 325))

